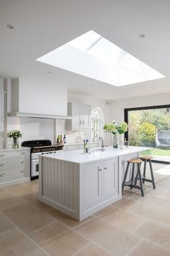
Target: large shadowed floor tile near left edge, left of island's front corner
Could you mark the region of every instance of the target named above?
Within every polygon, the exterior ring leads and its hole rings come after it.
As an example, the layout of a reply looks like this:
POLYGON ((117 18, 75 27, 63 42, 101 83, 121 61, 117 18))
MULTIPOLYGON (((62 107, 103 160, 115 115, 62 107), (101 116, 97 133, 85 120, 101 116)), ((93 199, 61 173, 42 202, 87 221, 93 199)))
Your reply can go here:
POLYGON ((4 216, 15 223, 22 231, 29 234, 37 229, 42 228, 55 220, 40 210, 35 209, 27 203, 2 210, 4 216))

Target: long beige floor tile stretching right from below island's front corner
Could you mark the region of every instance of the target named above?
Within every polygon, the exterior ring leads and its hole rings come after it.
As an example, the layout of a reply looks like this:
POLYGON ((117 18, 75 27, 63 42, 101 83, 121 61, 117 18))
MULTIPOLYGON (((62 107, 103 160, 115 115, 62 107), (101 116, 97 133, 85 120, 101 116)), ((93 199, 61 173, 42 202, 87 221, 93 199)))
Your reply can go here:
POLYGON ((127 255, 140 242, 138 236, 118 229, 99 218, 88 221, 75 230, 119 256, 127 255))

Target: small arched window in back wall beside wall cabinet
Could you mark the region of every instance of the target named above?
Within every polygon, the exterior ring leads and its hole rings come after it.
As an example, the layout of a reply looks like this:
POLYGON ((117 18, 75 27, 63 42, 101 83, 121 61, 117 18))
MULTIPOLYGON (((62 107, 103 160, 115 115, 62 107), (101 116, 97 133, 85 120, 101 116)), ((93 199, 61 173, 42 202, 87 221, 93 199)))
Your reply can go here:
POLYGON ((104 114, 101 108, 95 107, 91 111, 91 138, 102 136, 104 125, 104 114))

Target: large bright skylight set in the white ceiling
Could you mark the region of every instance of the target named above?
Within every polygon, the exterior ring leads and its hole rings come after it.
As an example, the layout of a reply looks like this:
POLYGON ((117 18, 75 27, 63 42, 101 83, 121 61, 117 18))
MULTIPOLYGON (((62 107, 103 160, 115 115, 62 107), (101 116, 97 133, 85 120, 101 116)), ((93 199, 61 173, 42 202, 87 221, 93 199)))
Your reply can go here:
POLYGON ((164 77, 93 30, 50 51, 37 61, 115 86, 164 77))

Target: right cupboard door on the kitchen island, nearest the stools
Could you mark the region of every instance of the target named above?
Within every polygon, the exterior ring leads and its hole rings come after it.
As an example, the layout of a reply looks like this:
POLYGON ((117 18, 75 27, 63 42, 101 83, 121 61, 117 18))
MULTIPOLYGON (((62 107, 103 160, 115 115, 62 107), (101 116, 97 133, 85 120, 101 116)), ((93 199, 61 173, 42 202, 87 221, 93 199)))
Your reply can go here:
POLYGON ((118 192, 118 179, 117 159, 104 161, 104 197, 118 192))

